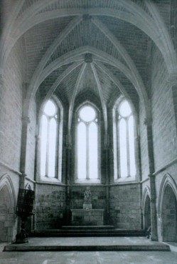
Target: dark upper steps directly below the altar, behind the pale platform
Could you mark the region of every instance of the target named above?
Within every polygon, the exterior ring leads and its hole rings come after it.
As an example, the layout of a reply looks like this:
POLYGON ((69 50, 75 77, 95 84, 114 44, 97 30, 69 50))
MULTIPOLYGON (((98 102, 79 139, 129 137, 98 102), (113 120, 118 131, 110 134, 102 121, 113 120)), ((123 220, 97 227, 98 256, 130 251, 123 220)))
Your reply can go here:
POLYGON ((114 228, 112 225, 63 226, 62 229, 35 230, 31 237, 137 237, 145 236, 144 230, 114 228))

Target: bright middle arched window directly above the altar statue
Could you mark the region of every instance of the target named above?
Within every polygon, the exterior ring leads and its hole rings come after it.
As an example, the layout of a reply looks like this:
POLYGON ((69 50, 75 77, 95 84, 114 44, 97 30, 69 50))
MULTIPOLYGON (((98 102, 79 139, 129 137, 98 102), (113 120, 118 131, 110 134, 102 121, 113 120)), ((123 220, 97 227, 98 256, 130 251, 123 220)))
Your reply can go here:
POLYGON ((99 124, 98 114, 90 104, 77 111, 77 179, 99 178, 99 124))

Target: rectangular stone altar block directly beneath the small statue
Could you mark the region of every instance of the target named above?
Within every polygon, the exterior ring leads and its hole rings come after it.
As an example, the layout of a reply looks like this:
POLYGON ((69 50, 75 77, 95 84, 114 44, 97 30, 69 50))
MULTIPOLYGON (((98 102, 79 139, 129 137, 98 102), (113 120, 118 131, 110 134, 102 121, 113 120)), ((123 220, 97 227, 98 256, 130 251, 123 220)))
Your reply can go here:
POLYGON ((72 225, 104 225, 104 209, 72 209, 72 225))

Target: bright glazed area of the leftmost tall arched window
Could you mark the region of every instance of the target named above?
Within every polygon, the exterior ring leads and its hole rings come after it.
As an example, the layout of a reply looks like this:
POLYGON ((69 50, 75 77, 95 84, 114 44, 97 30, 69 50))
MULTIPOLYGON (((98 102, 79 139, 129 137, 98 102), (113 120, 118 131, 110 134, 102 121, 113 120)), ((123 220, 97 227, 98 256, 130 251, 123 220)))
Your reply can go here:
POLYGON ((53 100, 48 100, 41 116, 41 176, 57 178, 58 120, 58 106, 53 100))

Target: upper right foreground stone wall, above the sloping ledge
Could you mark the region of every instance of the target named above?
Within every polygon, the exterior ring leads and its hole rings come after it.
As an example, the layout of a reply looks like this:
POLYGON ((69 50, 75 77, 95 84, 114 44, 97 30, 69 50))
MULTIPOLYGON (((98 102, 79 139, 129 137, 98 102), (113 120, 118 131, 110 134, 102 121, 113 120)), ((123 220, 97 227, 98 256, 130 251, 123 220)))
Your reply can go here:
POLYGON ((176 123, 171 84, 160 51, 154 47, 151 61, 151 112, 155 171, 176 158, 176 123))

